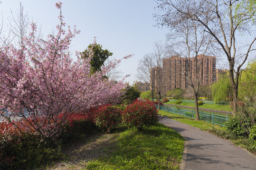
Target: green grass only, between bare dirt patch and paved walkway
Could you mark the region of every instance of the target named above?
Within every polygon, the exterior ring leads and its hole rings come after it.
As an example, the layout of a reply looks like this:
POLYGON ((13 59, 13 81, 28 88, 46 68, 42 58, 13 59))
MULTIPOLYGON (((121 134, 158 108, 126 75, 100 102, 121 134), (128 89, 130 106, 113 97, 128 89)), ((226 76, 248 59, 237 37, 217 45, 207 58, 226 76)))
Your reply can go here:
POLYGON ((87 170, 178 170, 184 138, 161 124, 118 134, 113 152, 88 162, 87 170))

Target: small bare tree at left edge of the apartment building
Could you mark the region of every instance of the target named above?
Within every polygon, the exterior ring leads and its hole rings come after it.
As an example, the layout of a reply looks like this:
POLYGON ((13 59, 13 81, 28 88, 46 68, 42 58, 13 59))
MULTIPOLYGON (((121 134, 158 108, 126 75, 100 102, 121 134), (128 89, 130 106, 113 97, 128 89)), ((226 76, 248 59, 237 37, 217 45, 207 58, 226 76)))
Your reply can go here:
POLYGON ((155 63, 153 60, 152 53, 145 54, 144 57, 139 60, 139 65, 137 68, 137 78, 150 85, 150 91, 152 96, 152 102, 154 102, 154 91, 155 91, 155 84, 153 81, 153 75, 151 74, 152 68, 155 67, 155 63))

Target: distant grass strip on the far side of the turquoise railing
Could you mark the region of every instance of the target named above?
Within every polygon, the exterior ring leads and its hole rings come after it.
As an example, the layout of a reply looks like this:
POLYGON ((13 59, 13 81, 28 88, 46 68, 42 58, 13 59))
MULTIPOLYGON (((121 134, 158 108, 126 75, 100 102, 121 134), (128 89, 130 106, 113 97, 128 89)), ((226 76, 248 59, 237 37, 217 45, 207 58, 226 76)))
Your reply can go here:
MULTIPOLYGON (((165 104, 175 104, 175 102, 166 102, 165 104)), ((181 102, 179 104, 180 106, 190 106, 195 107, 195 103, 189 103, 189 102, 181 102)), ((205 108, 205 109, 213 109, 213 110, 224 110, 224 111, 232 111, 229 107, 229 105, 222 105, 222 104, 203 104, 201 106, 198 106, 199 108, 205 108)))

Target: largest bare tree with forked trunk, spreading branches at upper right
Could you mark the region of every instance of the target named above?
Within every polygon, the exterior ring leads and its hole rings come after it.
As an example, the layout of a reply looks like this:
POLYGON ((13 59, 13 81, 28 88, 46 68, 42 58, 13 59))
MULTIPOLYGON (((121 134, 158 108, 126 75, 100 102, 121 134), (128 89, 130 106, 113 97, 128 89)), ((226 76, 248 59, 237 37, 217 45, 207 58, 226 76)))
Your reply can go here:
POLYGON ((211 34, 217 46, 224 52, 229 64, 229 77, 233 90, 234 110, 237 109, 238 81, 241 67, 255 50, 255 0, 156 0, 159 26, 173 27, 177 18, 190 18, 200 23, 211 34), (252 28, 252 31, 250 30, 252 28), (241 35, 251 35, 247 44, 239 42, 241 35))

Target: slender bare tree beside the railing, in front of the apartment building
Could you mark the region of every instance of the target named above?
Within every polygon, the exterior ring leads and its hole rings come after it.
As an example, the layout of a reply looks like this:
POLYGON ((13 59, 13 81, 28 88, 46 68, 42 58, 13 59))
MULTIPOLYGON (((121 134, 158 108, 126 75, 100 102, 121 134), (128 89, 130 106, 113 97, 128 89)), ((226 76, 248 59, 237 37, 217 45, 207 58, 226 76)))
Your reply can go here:
MULTIPOLYGON (((182 76, 186 78, 186 84, 193 89, 196 119, 199 120, 198 95, 199 86, 202 83, 200 70, 204 62, 204 54, 208 50, 211 38, 209 34, 202 30, 202 26, 190 18, 177 18, 173 25, 175 31, 167 35, 169 42, 169 51, 171 50, 176 56, 179 56, 178 62, 182 69, 182 76), (203 54, 199 57, 199 54, 203 54)), ((178 70, 177 70, 178 71, 178 70)), ((213 72, 211 73, 213 74, 213 72)))

